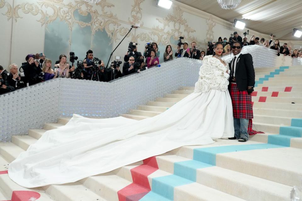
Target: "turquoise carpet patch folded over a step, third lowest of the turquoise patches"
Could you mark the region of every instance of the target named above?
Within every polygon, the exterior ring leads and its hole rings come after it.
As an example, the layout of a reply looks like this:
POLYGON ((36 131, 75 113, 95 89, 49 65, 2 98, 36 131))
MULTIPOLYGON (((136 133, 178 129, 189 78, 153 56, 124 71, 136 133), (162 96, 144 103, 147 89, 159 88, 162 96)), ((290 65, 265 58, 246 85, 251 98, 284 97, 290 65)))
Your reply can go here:
POLYGON ((174 163, 174 174, 196 182, 196 170, 212 165, 197 160, 186 160, 174 163))

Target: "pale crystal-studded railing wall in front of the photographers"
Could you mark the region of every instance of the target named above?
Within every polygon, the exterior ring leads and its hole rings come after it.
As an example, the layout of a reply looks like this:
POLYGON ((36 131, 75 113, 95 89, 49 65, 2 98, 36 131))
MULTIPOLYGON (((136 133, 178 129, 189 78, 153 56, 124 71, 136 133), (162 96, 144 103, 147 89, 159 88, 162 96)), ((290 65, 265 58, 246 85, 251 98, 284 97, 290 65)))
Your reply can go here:
MULTIPOLYGON (((260 46, 246 46, 254 67, 271 67, 276 52, 260 46)), ((230 56, 226 56, 230 60, 230 56)), ((117 117, 137 105, 171 93, 179 86, 194 86, 202 61, 177 58, 141 73, 110 83, 58 78, 0 95, 0 141, 28 129, 42 128, 57 117, 80 114, 85 117, 117 117)))

